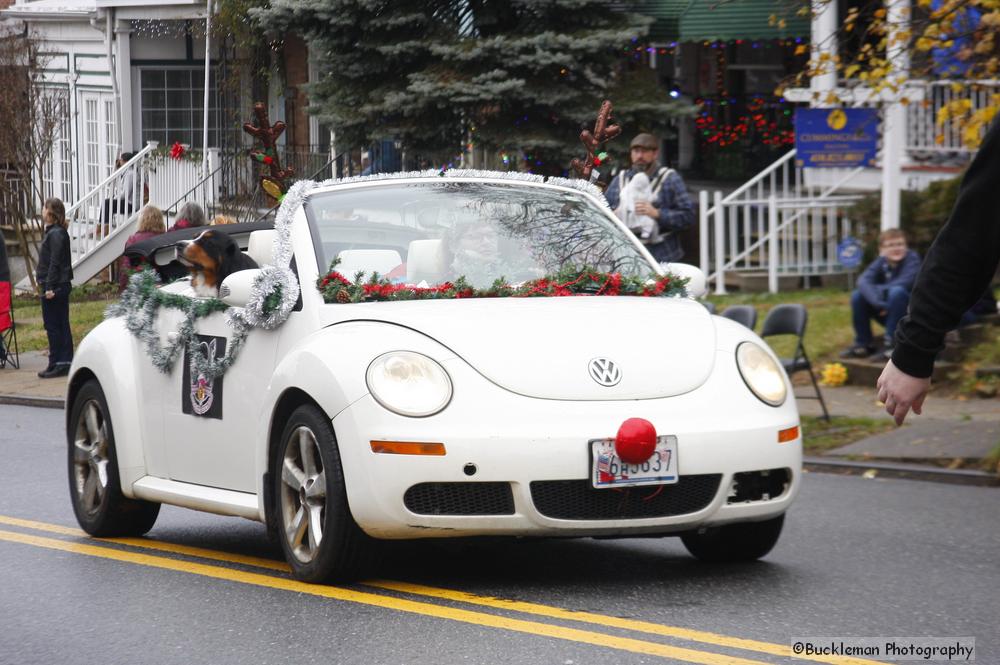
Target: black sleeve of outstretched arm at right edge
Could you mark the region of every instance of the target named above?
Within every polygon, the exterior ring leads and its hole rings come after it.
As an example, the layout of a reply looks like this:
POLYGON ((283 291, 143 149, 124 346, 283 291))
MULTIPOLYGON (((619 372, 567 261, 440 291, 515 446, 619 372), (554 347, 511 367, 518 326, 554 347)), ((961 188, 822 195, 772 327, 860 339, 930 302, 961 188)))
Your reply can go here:
POLYGON ((892 362, 928 377, 944 336, 982 296, 1000 263, 1000 120, 986 134, 962 179, 948 223, 938 234, 896 330, 892 362))

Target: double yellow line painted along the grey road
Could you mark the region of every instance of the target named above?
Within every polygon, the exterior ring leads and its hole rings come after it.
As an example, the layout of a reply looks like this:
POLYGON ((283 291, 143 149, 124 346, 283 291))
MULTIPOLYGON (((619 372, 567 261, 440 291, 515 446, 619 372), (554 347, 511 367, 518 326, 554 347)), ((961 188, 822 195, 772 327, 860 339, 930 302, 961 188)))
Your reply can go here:
MULTIPOLYGON (((361 603, 389 610, 400 612, 410 612, 422 616, 436 617, 450 621, 474 624, 500 630, 526 633, 530 635, 551 637, 555 639, 567 640, 582 644, 603 647, 606 649, 617 649, 631 653, 639 653, 648 656, 660 656, 686 663, 701 663, 703 665, 767 665, 759 660, 749 660, 727 654, 720 654, 712 651, 701 651, 686 647, 663 644, 630 637, 621 637, 606 632, 596 632, 569 628, 562 625, 545 623, 540 621, 529 621, 517 619, 488 612, 478 612, 467 609, 460 609, 449 605, 440 605, 431 602, 422 602, 388 596, 379 593, 369 593, 366 591, 356 591, 335 586, 323 586, 298 582, 286 576, 275 576, 273 574, 253 573, 226 566, 198 563, 184 559, 172 557, 155 556, 144 554, 108 545, 118 545, 135 549, 152 550, 165 552, 185 557, 198 558, 209 561, 218 561, 229 564, 239 564, 254 568, 267 569, 288 573, 288 566, 283 562, 262 559, 259 557, 243 556, 216 550, 207 550, 186 545, 161 542, 146 538, 105 538, 90 539, 78 530, 57 524, 36 522, 32 520, 19 519, 0 515, 0 524, 41 531, 43 533, 58 534, 60 536, 72 536, 76 540, 66 540, 63 538, 49 538, 20 531, 9 531, 0 529, 0 541, 21 543, 34 547, 41 547, 74 554, 99 557, 120 561, 123 563, 137 564, 163 570, 172 570, 191 575, 200 575, 213 579, 237 582, 240 584, 250 584, 283 591, 293 591, 296 593, 330 598, 351 603, 361 603), (81 540, 85 539, 85 540, 81 540), (93 544, 92 544, 93 543, 93 544), (99 544, 98 544, 99 543, 99 544)), ((392 591, 411 596, 433 598, 455 603, 463 603, 480 607, 487 607, 493 610, 505 612, 518 612, 536 617, 556 619, 565 622, 576 622, 600 626, 601 628, 616 628, 622 631, 633 633, 644 633, 658 637, 685 640, 699 644, 723 647, 727 649, 737 649, 752 651, 769 656, 782 658, 792 658, 796 660, 808 660, 821 663, 831 663, 833 665, 878 665, 875 661, 862 660, 846 657, 810 657, 796 656, 789 646, 783 644, 773 644, 748 640, 737 637, 729 637, 699 630, 681 628, 676 626, 666 626, 647 621, 632 619, 622 619, 619 617, 592 614, 589 612, 574 612, 549 605, 537 603, 527 603, 522 601, 503 600, 488 596, 477 596, 475 594, 448 589, 439 589, 420 584, 410 584, 407 582, 395 582, 386 580, 376 580, 364 582, 364 586, 392 591)))

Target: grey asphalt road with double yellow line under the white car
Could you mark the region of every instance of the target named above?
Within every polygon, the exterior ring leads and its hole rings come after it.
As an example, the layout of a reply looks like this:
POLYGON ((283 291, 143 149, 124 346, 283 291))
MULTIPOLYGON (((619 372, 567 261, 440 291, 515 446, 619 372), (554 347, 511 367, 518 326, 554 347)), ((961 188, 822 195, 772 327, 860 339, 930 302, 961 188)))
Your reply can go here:
POLYGON ((808 662, 800 636, 975 637, 1000 662, 995 488, 810 474, 755 564, 669 538, 435 541, 321 587, 239 518, 165 507, 146 539, 86 537, 62 411, 0 406, 0 455, 0 665, 808 662))

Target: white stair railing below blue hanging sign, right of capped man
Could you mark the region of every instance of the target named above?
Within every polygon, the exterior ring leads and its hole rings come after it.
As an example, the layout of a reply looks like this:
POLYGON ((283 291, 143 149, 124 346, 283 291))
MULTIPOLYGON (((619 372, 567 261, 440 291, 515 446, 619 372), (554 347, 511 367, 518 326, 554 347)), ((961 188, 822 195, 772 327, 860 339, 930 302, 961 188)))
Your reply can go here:
POLYGON ((717 294, 726 272, 766 273, 768 289, 778 276, 842 272, 837 244, 853 232, 847 214, 859 196, 835 192, 863 169, 847 171, 832 185, 804 183, 792 150, 736 191, 699 194, 700 265, 717 294))

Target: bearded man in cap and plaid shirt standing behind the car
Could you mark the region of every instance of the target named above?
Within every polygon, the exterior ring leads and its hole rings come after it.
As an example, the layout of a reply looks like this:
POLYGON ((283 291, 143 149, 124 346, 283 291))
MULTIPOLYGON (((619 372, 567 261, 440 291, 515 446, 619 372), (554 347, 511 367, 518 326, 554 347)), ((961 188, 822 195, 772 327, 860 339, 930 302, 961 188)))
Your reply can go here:
POLYGON ((635 214, 656 220, 654 233, 642 233, 640 239, 653 258, 660 262, 679 261, 684 256, 678 232, 694 223, 694 204, 688 196, 684 180, 677 171, 660 166, 660 140, 652 134, 642 133, 632 139, 632 167, 611 181, 605 196, 612 210, 624 219, 622 192, 639 173, 649 179, 651 196, 648 200, 635 201, 635 214))

